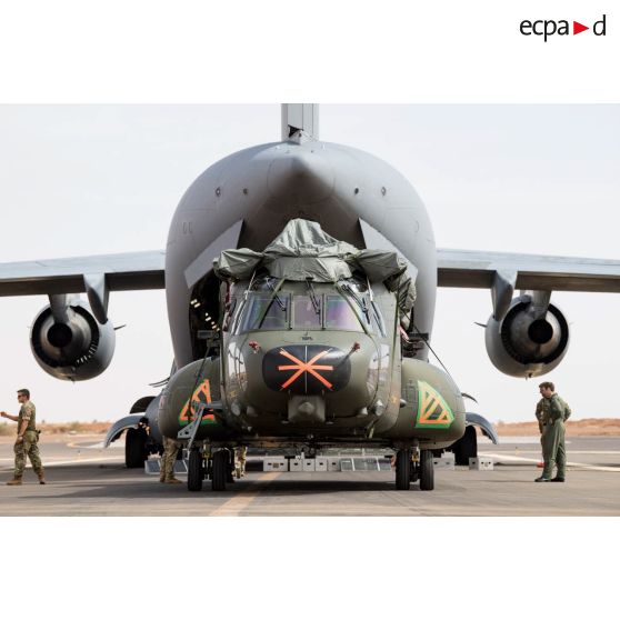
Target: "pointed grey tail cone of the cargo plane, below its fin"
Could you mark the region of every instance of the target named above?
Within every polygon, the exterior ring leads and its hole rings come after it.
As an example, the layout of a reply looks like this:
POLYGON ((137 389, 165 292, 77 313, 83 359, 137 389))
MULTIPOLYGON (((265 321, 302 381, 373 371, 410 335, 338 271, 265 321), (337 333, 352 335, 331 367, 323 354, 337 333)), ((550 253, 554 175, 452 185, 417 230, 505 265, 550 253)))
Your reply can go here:
POLYGON ((331 166, 311 150, 278 154, 269 167, 267 178, 271 196, 296 203, 324 200, 333 191, 333 184, 331 166))

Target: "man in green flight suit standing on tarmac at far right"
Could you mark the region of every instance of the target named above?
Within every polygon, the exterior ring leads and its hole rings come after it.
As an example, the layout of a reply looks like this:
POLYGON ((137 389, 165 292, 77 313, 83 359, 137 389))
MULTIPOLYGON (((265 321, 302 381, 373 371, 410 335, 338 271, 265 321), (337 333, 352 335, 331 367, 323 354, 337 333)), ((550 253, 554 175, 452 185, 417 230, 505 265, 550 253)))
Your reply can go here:
POLYGON ((564 447, 564 420, 571 414, 570 407, 556 393, 556 386, 544 381, 540 386, 542 399, 537 406, 537 418, 542 431, 542 456, 544 469, 536 482, 563 482, 566 478, 567 451, 564 447), (540 411, 540 418, 539 418, 540 411), (558 473, 551 478, 553 467, 558 473))

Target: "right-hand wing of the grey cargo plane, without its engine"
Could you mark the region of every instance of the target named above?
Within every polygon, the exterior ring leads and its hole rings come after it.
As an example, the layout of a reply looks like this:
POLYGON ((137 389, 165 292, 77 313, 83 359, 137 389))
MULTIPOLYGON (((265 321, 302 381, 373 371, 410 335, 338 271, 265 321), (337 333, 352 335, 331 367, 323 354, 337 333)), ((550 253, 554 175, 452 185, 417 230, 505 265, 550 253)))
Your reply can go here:
POLYGON ((620 292, 620 260, 446 249, 437 258, 440 287, 620 292))

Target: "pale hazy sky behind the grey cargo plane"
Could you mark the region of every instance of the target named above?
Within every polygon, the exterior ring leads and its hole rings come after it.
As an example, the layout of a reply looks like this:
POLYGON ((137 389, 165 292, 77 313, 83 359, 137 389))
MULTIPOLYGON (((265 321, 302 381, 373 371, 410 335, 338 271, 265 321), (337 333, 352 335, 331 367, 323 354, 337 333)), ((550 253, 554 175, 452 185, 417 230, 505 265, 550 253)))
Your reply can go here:
MULTIPOLYGON (((280 138, 279 104, 0 106, 0 262, 163 249, 174 209, 206 168, 280 138)), ((620 258, 620 106, 332 106, 320 138, 372 152, 422 198, 440 248, 620 258)), ((86 382, 44 373, 29 329, 44 296, 0 298, 0 409, 27 387, 46 421, 116 420, 168 376, 164 292, 114 292, 109 369, 86 382)), ((618 417, 620 296, 553 293, 571 343, 544 379, 573 417, 618 417)), ((533 418, 538 383, 494 369, 488 290, 440 289, 433 349, 491 421, 533 418)), ((432 361, 432 358, 431 358, 432 361)))

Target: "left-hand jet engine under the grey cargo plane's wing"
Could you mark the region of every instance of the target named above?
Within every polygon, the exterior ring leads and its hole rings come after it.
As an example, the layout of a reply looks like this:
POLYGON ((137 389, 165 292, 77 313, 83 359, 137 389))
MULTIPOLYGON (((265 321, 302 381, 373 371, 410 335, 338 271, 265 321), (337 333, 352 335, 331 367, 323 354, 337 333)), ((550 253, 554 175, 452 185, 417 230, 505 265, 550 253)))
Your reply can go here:
POLYGON ((88 303, 46 306, 32 324, 30 347, 39 366, 57 379, 84 381, 101 374, 114 353, 111 321, 97 322, 88 303))

